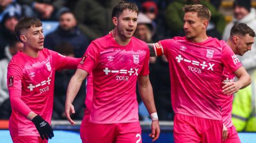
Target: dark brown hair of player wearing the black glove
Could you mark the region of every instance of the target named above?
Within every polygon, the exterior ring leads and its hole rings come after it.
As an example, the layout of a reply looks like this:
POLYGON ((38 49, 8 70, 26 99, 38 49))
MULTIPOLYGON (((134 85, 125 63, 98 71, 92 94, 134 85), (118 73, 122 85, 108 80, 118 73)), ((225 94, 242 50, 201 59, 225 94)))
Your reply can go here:
MULTIPOLYGON (((17 25, 15 26, 15 35, 20 40, 20 31, 22 29, 29 29, 31 26, 41 27, 43 24, 41 20, 37 18, 24 17, 19 20, 17 25)), ((20 40, 21 41, 21 40, 20 40)), ((21 41, 22 42, 22 41, 21 41)))

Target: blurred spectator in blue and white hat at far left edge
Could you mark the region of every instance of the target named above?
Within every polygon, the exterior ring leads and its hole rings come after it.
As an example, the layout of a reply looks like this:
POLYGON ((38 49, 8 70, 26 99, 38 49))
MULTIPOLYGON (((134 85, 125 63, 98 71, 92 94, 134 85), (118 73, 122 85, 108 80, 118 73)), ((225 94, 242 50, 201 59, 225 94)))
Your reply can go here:
POLYGON ((14 9, 6 11, 0 23, 0 59, 4 57, 4 47, 9 44, 9 39, 14 39, 14 27, 20 15, 14 9))

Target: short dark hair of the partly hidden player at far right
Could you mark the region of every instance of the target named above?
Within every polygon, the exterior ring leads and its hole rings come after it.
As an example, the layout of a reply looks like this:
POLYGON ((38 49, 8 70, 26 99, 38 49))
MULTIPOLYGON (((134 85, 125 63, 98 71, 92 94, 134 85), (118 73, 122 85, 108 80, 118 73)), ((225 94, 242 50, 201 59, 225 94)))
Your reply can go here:
POLYGON ((249 34, 251 37, 255 37, 255 32, 244 23, 236 23, 230 30, 230 36, 234 35, 243 35, 249 34))

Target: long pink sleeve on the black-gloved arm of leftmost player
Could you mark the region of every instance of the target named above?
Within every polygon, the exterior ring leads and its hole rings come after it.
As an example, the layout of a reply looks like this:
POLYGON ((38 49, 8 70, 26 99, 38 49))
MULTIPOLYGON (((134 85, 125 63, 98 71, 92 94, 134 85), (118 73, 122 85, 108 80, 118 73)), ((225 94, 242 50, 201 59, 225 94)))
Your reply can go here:
POLYGON ((22 70, 18 65, 10 63, 7 72, 7 87, 9 89, 10 102, 13 111, 27 117, 30 108, 21 100, 22 70))

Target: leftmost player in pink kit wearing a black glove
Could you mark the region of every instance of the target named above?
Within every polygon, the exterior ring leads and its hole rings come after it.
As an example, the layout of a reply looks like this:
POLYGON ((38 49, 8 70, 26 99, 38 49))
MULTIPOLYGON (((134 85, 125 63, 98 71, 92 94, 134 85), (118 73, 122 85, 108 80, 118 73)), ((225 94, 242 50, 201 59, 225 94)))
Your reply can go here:
POLYGON ((12 105, 10 134, 14 143, 47 142, 54 136, 49 123, 53 110, 55 71, 76 69, 81 59, 44 48, 42 22, 39 19, 20 19, 15 33, 24 48, 13 56, 7 72, 12 105))

